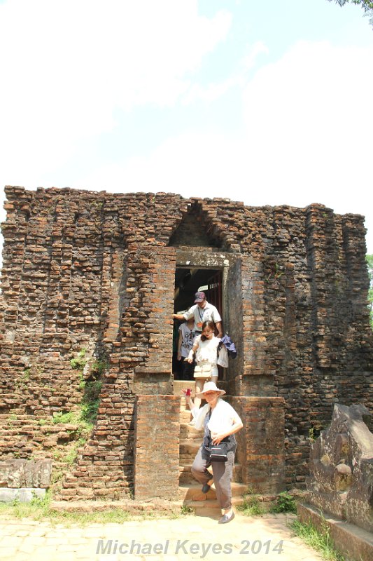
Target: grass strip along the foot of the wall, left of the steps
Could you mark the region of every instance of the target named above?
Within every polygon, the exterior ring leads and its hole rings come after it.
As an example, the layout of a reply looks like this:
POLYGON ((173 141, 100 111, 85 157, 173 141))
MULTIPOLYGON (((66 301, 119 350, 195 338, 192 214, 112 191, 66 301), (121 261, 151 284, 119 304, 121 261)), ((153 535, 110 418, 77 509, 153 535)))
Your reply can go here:
POLYGON ((53 510, 51 501, 51 494, 47 492, 43 499, 34 496, 30 503, 20 503, 17 500, 11 503, 0 503, 0 518, 30 518, 31 520, 48 521, 52 526, 63 524, 67 527, 85 527, 89 524, 122 524, 128 520, 149 518, 182 518, 187 514, 183 508, 181 511, 174 512, 149 511, 136 514, 129 513, 122 508, 113 508, 110 511, 92 510, 90 513, 64 513, 53 510))

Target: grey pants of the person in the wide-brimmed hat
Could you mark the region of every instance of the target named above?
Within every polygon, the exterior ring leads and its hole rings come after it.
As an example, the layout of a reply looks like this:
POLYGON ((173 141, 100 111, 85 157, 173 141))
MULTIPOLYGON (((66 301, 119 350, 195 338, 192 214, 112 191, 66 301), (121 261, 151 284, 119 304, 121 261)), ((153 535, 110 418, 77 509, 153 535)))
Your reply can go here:
POLYGON ((227 461, 210 461, 202 457, 202 446, 196 454, 192 465, 192 474, 202 485, 211 480, 211 473, 207 471, 209 466, 213 468, 213 482, 215 483, 216 498, 220 508, 230 508, 232 506, 232 469, 234 464, 234 451, 228 452, 227 461))

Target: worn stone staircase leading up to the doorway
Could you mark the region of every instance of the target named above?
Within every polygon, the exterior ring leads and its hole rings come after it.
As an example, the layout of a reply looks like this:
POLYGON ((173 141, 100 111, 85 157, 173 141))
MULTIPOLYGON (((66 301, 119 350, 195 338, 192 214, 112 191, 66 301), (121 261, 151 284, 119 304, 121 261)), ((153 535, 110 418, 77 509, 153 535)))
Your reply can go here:
MULTIPOLYGON (((174 380, 174 395, 181 395, 181 388, 191 388, 192 398, 195 396, 195 382, 194 381, 180 381, 174 380)), ((197 431, 194 426, 191 426, 190 411, 186 404, 185 398, 181 398, 180 407, 180 475, 178 496, 185 506, 189 506, 196 513, 208 514, 220 513, 218 501, 216 501, 216 492, 212 485, 211 490, 204 494, 201 491, 201 485, 192 476, 191 468, 195 458, 195 454, 201 445, 203 438, 203 431, 197 431)), ((211 467, 209 471, 212 474, 211 467)), ((233 479, 232 479, 232 504, 237 506, 241 504, 243 494, 247 492, 247 486, 241 483, 241 466, 234 464, 233 479)))

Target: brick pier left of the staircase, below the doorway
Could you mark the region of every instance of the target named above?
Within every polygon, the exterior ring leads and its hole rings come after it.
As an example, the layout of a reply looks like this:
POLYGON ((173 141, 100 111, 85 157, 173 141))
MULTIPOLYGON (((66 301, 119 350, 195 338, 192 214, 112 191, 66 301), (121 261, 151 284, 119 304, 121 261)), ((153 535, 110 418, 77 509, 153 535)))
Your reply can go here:
POLYGON ((134 426, 135 499, 177 499, 180 398, 137 396, 134 426))

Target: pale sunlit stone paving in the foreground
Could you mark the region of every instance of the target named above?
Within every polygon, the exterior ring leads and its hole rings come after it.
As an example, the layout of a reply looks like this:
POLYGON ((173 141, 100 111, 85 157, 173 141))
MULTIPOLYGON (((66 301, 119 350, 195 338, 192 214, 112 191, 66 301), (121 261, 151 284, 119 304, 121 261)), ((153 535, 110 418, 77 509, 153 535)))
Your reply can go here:
POLYGON ((0 518, 0 559, 12 561, 319 561, 289 528, 293 515, 215 515, 79 527, 0 518))

